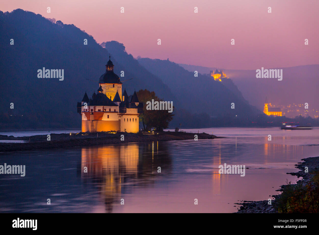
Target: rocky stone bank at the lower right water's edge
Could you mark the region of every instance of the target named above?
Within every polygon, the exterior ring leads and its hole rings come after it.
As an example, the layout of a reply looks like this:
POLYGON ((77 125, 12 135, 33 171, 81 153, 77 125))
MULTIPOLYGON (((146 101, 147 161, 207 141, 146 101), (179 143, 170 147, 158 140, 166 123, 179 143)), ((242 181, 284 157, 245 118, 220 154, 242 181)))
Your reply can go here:
MULTIPOLYGON (((306 184, 311 182, 311 174, 314 170, 319 169, 319 157, 309 157, 301 159, 303 162, 298 162, 296 164, 296 168, 299 169, 298 172, 287 173, 292 176, 302 177, 302 179, 297 181, 297 184, 305 187, 306 184), (305 167, 308 167, 308 173, 305 172, 305 167)), ((276 190, 282 192, 287 185, 281 185, 280 189, 276 190)), ((272 195, 275 200, 272 200, 272 205, 268 205, 267 200, 263 201, 243 201, 242 203, 235 203, 237 205, 241 205, 237 212, 235 213, 278 213, 276 208, 274 207, 274 202, 280 198, 281 194, 272 195)))

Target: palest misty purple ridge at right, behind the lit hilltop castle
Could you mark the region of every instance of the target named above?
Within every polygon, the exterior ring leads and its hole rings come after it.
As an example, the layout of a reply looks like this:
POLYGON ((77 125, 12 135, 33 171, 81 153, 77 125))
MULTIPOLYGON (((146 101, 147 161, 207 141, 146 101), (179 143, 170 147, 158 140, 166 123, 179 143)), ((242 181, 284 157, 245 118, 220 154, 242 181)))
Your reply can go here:
MULTIPOLYGON (((179 64, 186 70, 208 74, 216 68, 179 64)), ((261 69, 256 68, 256 69, 261 69)), ((304 104, 308 103, 309 108, 319 109, 317 100, 319 93, 319 65, 301 65, 294 67, 277 67, 264 69, 282 69, 283 80, 275 78, 256 78, 256 70, 232 70, 223 69, 227 77, 234 81, 234 84, 243 94, 243 97, 251 105, 263 109, 265 97, 275 105, 304 104), (296 90, 295 85, 298 84, 296 90), (254 89, 251 89, 251 88, 254 89)), ((219 69, 220 70, 220 69, 219 69)))

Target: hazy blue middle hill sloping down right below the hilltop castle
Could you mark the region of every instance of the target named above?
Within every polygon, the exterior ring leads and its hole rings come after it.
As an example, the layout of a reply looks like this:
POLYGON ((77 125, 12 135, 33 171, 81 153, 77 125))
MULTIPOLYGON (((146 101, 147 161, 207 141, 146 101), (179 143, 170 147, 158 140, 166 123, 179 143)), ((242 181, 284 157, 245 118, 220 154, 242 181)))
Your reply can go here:
POLYGON ((169 60, 139 58, 138 62, 151 73, 158 75, 179 98, 190 113, 209 116, 237 115, 250 117, 260 113, 242 97, 231 81, 219 82, 210 77, 189 72, 169 60), (228 88, 226 87, 228 86, 228 88), (235 109, 231 109, 231 103, 235 109))

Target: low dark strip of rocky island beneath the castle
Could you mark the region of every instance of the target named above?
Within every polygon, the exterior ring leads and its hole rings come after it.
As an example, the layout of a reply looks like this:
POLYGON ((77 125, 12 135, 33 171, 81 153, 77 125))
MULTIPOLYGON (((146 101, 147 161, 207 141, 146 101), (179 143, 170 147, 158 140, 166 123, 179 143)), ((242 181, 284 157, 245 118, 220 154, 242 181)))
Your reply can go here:
POLYGON ((0 152, 24 151, 32 149, 48 149, 87 145, 104 145, 119 144, 129 142, 145 142, 145 141, 167 141, 167 140, 189 140, 194 139, 194 135, 198 139, 214 139, 222 138, 206 133, 187 133, 182 131, 163 131, 157 133, 134 134, 127 132, 99 132, 99 133, 70 133, 70 134, 50 134, 50 141, 47 135, 36 135, 28 137, 13 137, 0 135, 0 140, 24 140, 24 143, 0 143, 0 152), (124 140, 123 140, 123 136, 124 140))

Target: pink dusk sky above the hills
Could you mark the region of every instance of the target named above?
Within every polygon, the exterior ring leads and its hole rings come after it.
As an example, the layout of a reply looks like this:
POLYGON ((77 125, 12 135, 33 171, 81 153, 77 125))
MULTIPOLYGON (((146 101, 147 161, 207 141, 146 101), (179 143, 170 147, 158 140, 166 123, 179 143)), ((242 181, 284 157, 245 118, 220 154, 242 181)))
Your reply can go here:
POLYGON ((317 0, 10 0, 0 10, 74 24, 134 57, 226 69, 319 64, 317 0), (51 13, 47 13, 51 7, 51 13), (124 13, 120 8, 124 7, 124 13), (194 13, 198 7, 198 13, 194 13), (268 13, 271 7, 272 13, 268 13), (235 45, 231 45, 231 39, 235 45), (304 44, 305 39, 309 45, 304 44), (157 45, 161 39, 161 45, 157 45))

